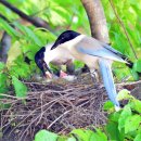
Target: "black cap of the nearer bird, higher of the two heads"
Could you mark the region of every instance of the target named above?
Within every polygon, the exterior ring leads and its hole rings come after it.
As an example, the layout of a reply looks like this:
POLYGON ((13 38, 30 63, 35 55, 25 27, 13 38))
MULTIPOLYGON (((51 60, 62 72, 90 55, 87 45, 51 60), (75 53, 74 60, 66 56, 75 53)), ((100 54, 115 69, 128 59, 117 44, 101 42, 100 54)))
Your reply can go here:
POLYGON ((74 30, 66 30, 62 33, 59 38, 55 40, 54 44, 52 46, 51 50, 55 49, 59 44, 64 43, 66 41, 73 40, 77 36, 79 36, 79 33, 76 33, 74 30))

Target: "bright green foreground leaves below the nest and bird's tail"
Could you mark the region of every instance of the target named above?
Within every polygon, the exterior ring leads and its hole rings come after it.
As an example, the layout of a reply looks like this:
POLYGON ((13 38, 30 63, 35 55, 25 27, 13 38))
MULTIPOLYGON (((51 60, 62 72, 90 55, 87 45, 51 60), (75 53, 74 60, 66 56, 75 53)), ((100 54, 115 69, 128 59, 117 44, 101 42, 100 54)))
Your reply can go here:
POLYGON ((127 90, 118 94, 118 99, 128 100, 118 112, 114 105, 106 102, 104 108, 108 113, 107 123, 101 128, 74 129, 68 136, 59 136, 47 130, 40 130, 35 136, 35 141, 140 141, 141 140, 141 101, 134 99, 127 90))

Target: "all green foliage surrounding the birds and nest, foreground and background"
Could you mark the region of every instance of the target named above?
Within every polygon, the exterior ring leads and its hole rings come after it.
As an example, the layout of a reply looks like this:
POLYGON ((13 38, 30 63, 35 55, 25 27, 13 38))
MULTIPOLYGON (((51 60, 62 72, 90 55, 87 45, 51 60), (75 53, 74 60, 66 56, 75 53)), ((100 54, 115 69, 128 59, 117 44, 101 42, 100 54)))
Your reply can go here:
MULTIPOLYGON (((80 0, 7 0, 18 5, 16 9, 36 21, 44 22, 44 27, 23 20, 0 1, 0 52, 2 52, 2 38, 4 33, 10 36, 7 63, 0 62, 0 93, 25 98, 27 87, 24 80, 33 80, 36 74, 41 74, 36 66, 35 53, 43 46, 53 42, 66 29, 74 29, 90 35, 87 14, 80 0), (28 61, 26 60, 28 59, 28 61)), ((114 63, 113 72, 117 81, 126 78, 127 81, 139 80, 141 73, 141 0, 102 0, 107 20, 111 44, 131 61, 133 69, 124 64, 114 63), (133 53, 134 52, 134 53, 133 53)), ((0 53, 0 57, 3 54, 0 53)), ((81 66, 76 63, 76 67, 81 66)), ((4 95, 0 94, 2 100, 4 95)), ((119 94, 119 99, 128 99, 128 104, 119 112, 113 112, 110 103, 104 105, 107 110, 107 124, 103 127, 90 129, 74 129, 68 136, 60 136, 41 130, 35 136, 35 141, 140 141, 141 140, 141 102, 127 91, 119 94), (121 98, 124 97, 124 98, 121 98)), ((9 105, 0 104, 0 108, 9 105)))

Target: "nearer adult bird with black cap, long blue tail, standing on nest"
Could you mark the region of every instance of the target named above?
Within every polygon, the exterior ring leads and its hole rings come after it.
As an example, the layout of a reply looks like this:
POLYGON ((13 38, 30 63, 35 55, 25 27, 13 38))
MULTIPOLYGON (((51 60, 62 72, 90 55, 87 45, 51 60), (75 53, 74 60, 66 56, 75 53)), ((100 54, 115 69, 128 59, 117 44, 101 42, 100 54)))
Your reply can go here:
POLYGON ((116 100, 117 92, 111 65, 113 61, 117 61, 131 67, 132 63, 119 51, 104 42, 74 30, 66 30, 59 36, 51 50, 44 53, 44 62, 49 66, 50 62, 66 64, 74 60, 87 64, 92 77, 95 76, 97 80, 100 79, 99 74, 101 73, 107 95, 115 107, 118 108, 119 102, 116 100))

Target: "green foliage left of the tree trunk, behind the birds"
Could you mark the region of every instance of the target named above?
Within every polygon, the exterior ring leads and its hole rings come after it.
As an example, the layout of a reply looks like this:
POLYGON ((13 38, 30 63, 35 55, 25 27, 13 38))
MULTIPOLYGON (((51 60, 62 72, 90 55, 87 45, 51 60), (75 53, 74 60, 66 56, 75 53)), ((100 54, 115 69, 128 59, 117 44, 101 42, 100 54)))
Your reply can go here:
POLYGON ((2 38, 2 31, 4 30, 11 36, 12 40, 7 64, 0 63, 0 92, 7 93, 12 86, 15 95, 21 98, 25 97, 27 91, 21 80, 30 79, 39 73, 34 60, 35 53, 47 43, 53 42, 56 36, 67 27, 89 33, 89 26, 86 26, 86 24, 88 25, 88 18, 78 0, 75 4, 72 0, 67 0, 67 2, 62 0, 8 1, 13 5, 18 5, 17 9, 30 16, 41 17, 52 28, 52 31, 48 29, 42 31, 42 28, 36 28, 31 24, 23 22, 18 15, 0 4, 2 14, 10 21, 8 23, 0 18, 0 38, 2 38), (66 10, 65 8, 68 4, 70 7, 66 10), (25 62, 26 57, 30 60, 29 64, 25 62))

